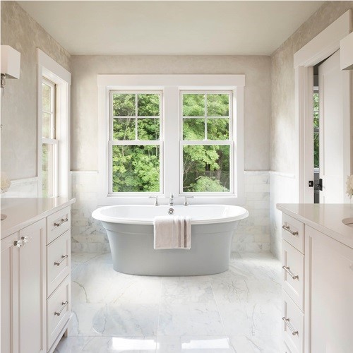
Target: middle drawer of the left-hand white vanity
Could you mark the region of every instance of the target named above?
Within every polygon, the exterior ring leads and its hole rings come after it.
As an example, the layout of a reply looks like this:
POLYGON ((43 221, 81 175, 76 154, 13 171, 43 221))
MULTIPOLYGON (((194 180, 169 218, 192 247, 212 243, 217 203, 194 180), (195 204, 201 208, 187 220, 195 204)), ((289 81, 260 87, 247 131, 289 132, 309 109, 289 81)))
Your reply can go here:
POLYGON ((47 246, 47 297, 70 273, 71 237, 67 230, 47 246))

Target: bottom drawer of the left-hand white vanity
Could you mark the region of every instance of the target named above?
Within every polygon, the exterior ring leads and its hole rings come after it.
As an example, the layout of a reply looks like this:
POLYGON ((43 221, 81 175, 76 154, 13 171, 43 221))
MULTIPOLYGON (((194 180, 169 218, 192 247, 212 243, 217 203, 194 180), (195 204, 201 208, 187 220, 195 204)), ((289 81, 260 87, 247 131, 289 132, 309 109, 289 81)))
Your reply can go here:
POLYGON ((52 347, 71 313, 70 275, 47 299, 47 348, 52 347))

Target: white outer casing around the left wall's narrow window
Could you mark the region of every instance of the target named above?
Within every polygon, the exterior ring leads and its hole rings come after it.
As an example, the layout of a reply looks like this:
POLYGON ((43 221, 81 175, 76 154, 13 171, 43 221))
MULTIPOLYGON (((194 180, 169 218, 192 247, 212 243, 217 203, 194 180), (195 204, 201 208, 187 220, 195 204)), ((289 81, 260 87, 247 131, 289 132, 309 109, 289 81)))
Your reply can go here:
MULTIPOLYGON (((56 85, 57 165, 56 195, 71 196, 70 170, 70 85, 71 73, 37 48, 37 175, 38 197, 42 197, 42 83, 49 80, 56 85)), ((55 197, 54 196, 54 197, 55 197)))

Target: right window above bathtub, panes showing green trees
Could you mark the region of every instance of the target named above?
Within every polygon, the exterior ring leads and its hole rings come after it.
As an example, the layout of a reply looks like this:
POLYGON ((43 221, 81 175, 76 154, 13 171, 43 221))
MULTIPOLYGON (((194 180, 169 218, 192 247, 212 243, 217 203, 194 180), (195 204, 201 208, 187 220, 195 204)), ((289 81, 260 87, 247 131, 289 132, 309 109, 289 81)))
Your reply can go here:
POLYGON ((181 92, 183 193, 232 191, 232 92, 181 92))

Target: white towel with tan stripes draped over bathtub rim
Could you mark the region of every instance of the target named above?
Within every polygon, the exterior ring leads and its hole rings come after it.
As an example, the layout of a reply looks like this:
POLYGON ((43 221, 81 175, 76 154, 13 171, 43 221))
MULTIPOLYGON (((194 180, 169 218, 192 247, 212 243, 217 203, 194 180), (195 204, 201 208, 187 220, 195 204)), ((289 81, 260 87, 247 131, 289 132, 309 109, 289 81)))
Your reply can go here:
POLYGON ((155 217, 155 249, 191 249, 190 216, 155 217))

